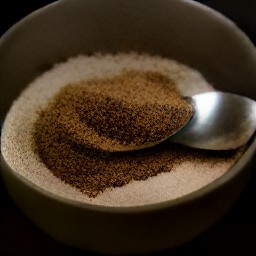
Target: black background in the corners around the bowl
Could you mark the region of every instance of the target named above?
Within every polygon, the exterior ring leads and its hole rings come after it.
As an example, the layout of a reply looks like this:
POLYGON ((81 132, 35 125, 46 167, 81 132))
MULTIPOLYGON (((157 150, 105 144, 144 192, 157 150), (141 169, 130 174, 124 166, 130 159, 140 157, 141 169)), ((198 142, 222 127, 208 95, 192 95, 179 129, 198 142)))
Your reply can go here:
MULTIPOLYGON (((51 2, 54 1, 0 1, 0 36, 15 22, 51 2)), ((256 0, 198 2, 229 17, 256 45, 256 0)), ((256 255, 255 186, 256 173, 252 172, 244 192, 222 220, 196 239, 158 255, 256 255)), ((63 245, 39 230, 12 202, 0 179, 0 255, 54 254, 95 255, 63 245)))

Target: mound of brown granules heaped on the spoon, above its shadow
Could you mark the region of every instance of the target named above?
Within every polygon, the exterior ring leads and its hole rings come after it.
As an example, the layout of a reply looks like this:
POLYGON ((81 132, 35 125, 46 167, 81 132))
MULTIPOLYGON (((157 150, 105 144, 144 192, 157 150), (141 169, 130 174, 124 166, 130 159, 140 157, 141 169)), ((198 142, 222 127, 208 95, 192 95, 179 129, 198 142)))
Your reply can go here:
POLYGON ((178 131, 192 107, 159 72, 126 71, 64 87, 44 113, 77 144, 109 152, 132 150, 178 131))

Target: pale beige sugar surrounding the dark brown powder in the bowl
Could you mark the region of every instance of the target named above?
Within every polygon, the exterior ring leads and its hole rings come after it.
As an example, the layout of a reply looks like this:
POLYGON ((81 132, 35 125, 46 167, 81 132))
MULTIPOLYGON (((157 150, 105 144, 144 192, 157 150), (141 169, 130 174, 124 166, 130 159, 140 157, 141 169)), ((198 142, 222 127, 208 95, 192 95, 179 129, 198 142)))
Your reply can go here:
POLYGON ((209 162, 184 162, 171 172, 146 181, 134 181, 123 187, 107 189, 95 198, 56 178, 32 149, 32 130, 37 116, 48 101, 67 83, 115 75, 124 69, 159 71, 175 80, 184 96, 212 91, 202 75, 176 61, 156 56, 130 54, 78 56, 35 79, 13 103, 2 132, 1 150, 7 163, 20 175, 39 187, 62 197, 107 206, 145 205, 191 193, 223 175, 238 159, 227 158, 212 166, 209 162))

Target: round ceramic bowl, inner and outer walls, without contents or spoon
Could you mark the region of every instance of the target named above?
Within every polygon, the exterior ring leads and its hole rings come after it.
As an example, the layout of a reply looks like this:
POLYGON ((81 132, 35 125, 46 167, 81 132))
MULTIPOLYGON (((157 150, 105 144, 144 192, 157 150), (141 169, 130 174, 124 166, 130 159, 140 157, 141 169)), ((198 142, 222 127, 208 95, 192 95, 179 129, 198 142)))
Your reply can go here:
MULTIPOLYGON (((1 122, 34 78, 78 54, 146 52, 199 70, 216 89, 256 99, 256 51, 230 20, 187 0, 63 0, 28 15, 0 41, 1 122), (242 63, 242 65, 241 65, 242 63)), ((94 252, 158 252, 193 239, 230 209, 247 184, 256 138, 224 175, 183 197, 136 207, 79 203, 13 170, 1 175, 18 207, 54 239, 94 252)))

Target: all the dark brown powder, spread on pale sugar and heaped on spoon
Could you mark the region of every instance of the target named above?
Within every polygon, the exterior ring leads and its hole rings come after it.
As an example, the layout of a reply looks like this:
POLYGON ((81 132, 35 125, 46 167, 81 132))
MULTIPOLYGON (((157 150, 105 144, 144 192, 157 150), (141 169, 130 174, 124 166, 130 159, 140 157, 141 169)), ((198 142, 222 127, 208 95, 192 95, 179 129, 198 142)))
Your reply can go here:
POLYGON ((168 77, 125 71, 63 87, 38 113, 35 151, 55 176, 89 197, 188 160, 211 159, 214 165, 235 156, 235 151, 208 152, 170 142, 117 153, 174 133, 191 115, 191 106, 168 77))

